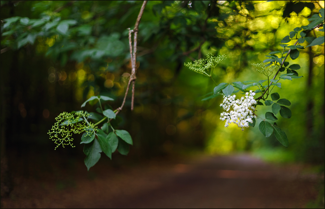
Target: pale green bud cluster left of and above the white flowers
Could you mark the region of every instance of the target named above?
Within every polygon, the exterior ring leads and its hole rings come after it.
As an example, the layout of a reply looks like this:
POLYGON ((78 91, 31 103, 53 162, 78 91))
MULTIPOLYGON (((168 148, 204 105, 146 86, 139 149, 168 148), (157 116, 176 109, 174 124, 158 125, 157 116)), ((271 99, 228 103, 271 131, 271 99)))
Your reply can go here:
POLYGON ((225 55, 215 57, 212 54, 208 54, 206 59, 194 60, 193 62, 184 63, 190 70, 201 74, 207 74, 205 71, 209 68, 215 67, 216 64, 226 59, 225 55))

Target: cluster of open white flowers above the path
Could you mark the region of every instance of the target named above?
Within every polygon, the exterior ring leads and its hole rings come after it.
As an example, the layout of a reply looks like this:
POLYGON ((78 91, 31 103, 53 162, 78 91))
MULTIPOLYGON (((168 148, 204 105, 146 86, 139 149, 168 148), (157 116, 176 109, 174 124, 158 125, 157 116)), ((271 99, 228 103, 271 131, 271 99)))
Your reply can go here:
POLYGON ((237 124, 241 130, 244 130, 244 127, 248 127, 248 123, 253 123, 252 118, 256 118, 253 111, 255 108, 253 107, 256 104, 253 96, 254 92, 249 91, 246 92, 245 97, 241 97, 240 99, 236 99, 236 95, 224 96, 224 100, 220 106, 225 110, 220 114, 220 120, 226 120, 225 127, 228 127, 229 124, 234 123, 237 124), (230 110, 232 108, 233 110, 230 110))

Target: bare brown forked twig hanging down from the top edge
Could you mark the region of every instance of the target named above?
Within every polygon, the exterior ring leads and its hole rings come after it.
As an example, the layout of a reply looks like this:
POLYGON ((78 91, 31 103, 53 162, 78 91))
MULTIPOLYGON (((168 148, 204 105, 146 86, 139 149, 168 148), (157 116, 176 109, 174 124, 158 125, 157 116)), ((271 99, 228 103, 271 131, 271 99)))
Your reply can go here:
POLYGON ((129 46, 130 46, 130 59, 131 59, 131 65, 132 65, 132 72, 130 76, 130 80, 127 84, 126 91, 124 94, 123 102, 121 107, 116 109, 116 115, 122 111, 123 106, 125 104, 125 100, 127 97, 127 94, 129 92, 130 85, 132 83, 132 100, 131 100, 131 111, 134 107, 134 86, 135 86, 135 80, 136 80, 136 45, 137 45, 137 34, 138 34, 138 28, 140 24, 141 17, 143 15, 144 8, 146 7, 148 1, 143 1, 142 7, 140 9, 140 12, 138 14, 138 18, 136 19, 136 24, 134 25, 134 29, 131 30, 129 28, 129 46), (134 39, 133 39, 133 48, 132 48, 132 33, 134 33, 134 39), (133 53, 132 53, 133 51, 133 53))

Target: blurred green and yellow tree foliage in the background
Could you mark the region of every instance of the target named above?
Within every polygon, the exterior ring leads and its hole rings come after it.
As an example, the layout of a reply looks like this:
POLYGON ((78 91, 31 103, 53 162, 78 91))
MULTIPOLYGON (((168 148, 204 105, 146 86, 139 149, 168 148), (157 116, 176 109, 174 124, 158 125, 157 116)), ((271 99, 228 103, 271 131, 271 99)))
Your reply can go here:
MULTIPOLYGON (((91 96, 115 98, 111 106, 119 107, 131 73, 127 28, 134 26, 141 4, 1 1, 2 153, 6 146, 21 153, 26 146, 53 149, 46 132, 54 118, 79 110, 91 96)), ((278 50, 283 37, 309 24, 320 8, 323 1, 149 1, 139 25, 135 110, 120 115, 126 119, 120 126, 135 141, 131 152, 277 148, 275 137, 262 141, 258 130, 224 130, 220 98, 201 101, 214 84, 183 63, 226 54, 214 71, 217 82, 259 78, 250 64, 278 50)), ((315 30, 307 37, 312 41, 320 34, 315 30)), ((324 46, 310 48, 292 62, 303 66, 305 80, 288 83, 305 98, 282 93, 302 113, 284 126, 294 159, 324 162, 324 46)), ((93 105, 86 110, 98 107, 93 105)))

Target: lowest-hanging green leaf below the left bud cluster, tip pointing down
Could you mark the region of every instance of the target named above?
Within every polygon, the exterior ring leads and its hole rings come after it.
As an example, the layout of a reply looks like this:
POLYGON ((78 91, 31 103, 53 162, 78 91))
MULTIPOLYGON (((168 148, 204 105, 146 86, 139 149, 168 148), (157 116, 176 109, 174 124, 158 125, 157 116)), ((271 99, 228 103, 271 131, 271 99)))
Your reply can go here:
POLYGON ((87 155, 85 158, 85 165, 87 166, 88 171, 89 168, 98 162, 100 152, 102 152, 102 150, 96 138, 94 139, 93 143, 85 144, 84 153, 87 155))

